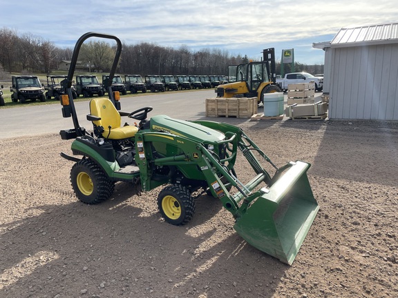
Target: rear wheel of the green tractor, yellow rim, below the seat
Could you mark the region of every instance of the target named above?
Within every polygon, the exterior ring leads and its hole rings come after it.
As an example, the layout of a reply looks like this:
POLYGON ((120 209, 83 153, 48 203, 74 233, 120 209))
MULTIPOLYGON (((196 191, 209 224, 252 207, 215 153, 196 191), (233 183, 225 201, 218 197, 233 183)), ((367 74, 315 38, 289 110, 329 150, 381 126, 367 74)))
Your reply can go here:
POLYGON ((70 170, 70 183, 77 198, 88 205, 106 201, 115 190, 115 184, 91 159, 75 163, 70 170))

